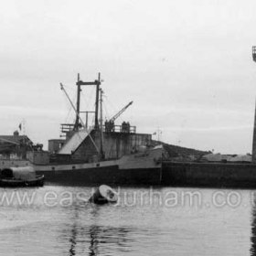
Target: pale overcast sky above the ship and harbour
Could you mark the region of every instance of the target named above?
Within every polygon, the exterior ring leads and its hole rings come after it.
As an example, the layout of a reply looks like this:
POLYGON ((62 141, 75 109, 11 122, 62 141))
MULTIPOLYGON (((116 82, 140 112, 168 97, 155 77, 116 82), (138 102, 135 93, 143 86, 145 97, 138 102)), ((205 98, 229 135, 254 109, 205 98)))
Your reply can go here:
POLYGON ((134 101, 119 122, 139 133, 251 153, 255 24, 255 0, 1 1, 0 133, 25 120, 47 148, 74 116, 59 82, 73 100, 77 73, 101 71, 107 117, 134 101))

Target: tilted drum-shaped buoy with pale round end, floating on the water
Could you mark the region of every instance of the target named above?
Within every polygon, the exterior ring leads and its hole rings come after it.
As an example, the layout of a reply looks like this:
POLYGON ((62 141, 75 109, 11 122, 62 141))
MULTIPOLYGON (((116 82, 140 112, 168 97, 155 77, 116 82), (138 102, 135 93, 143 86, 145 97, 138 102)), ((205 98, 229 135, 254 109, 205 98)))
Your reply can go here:
POLYGON ((103 205, 117 202, 117 193, 107 185, 101 185, 89 199, 90 203, 103 205))

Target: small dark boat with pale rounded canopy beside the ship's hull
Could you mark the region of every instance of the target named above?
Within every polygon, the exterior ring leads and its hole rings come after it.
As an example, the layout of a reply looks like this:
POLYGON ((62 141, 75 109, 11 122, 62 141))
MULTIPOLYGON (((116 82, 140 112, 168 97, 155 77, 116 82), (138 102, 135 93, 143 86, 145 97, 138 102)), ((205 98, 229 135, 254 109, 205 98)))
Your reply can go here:
POLYGON ((43 187, 44 179, 32 166, 9 167, 0 172, 0 187, 43 187))

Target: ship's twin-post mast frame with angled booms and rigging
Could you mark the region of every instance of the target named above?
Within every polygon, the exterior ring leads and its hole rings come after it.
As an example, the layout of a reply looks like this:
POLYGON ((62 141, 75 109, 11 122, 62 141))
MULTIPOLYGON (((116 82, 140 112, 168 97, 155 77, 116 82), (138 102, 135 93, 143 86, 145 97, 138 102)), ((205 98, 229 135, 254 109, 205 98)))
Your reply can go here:
POLYGON ((95 147, 97 154, 100 159, 103 160, 105 158, 105 153, 103 150, 103 137, 105 133, 135 133, 136 129, 134 126, 131 126, 130 123, 123 122, 122 125, 115 125, 114 121, 122 115, 124 111, 127 110, 129 106, 133 104, 133 101, 130 101, 127 105, 123 107, 123 109, 112 116, 109 121, 105 121, 104 126, 102 122, 102 94, 103 91, 101 89, 101 73, 98 74, 98 80, 94 81, 83 81, 80 80, 80 74, 78 74, 78 80, 76 82, 77 85, 77 103, 75 104, 70 100, 68 92, 65 90, 64 85, 60 83, 60 89, 64 91, 66 97, 69 100, 69 103, 76 114, 75 123, 62 123, 61 124, 61 132, 65 133, 66 143, 64 144, 64 150, 60 150, 60 154, 71 153, 76 150, 74 144, 76 141, 84 140, 86 136, 89 136, 91 139, 91 143, 95 147), (81 86, 96 86, 96 97, 95 97, 95 110, 93 112, 88 111, 80 111, 80 92, 81 86), (100 112, 100 119, 99 119, 100 112), (80 113, 86 113, 86 122, 82 120, 80 113), (94 113, 94 126, 88 129, 88 114, 94 113), (100 121, 100 122, 99 122, 100 121), (94 135, 99 134, 100 141, 97 141, 97 136, 91 135, 94 132, 94 135), (73 137, 73 139, 71 139, 73 137), (94 137, 94 138, 93 138, 94 137), (69 145, 68 145, 69 144, 69 145), (66 148, 66 150, 65 150, 66 148))

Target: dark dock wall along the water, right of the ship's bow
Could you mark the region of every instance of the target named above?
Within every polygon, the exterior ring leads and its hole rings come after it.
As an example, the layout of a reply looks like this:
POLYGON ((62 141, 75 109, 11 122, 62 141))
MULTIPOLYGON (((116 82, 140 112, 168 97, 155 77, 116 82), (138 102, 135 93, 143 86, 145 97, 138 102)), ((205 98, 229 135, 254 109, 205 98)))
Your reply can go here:
POLYGON ((256 188, 256 165, 165 162, 162 184, 186 187, 256 188))

